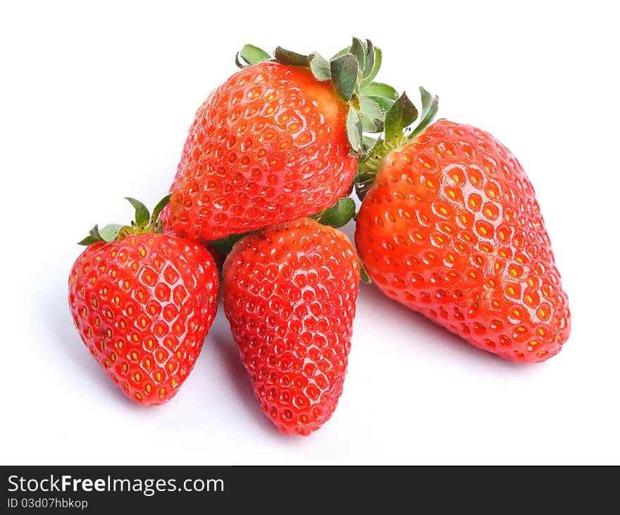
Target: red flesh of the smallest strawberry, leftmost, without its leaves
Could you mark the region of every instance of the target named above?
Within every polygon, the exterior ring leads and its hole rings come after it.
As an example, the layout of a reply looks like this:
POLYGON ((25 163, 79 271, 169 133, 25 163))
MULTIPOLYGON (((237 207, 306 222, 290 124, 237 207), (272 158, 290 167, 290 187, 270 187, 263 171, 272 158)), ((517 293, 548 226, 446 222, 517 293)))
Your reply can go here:
POLYGON ((209 253, 178 236, 94 243, 69 276, 85 345, 123 393, 143 406, 170 400, 194 367, 217 310, 209 253))

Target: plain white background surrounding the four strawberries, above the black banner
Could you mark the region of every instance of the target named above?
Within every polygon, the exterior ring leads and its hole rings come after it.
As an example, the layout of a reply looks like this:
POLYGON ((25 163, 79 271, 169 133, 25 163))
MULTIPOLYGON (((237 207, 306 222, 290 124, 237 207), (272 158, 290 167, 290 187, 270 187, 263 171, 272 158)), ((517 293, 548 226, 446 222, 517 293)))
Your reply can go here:
MULTIPOLYGON (((612 2, 14 2, 0 8, 2 464, 620 464, 612 2), (383 10, 382 10, 383 9, 383 10), (142 408, 73 328, 75 245, 166 193, 246 42, 383 49, 379 79, 493 133, 538 193, 569 293, 559 356, 473 349, 362 285, 345 392, 311 437, 263 416, 220 310, 180 393, 142 408)), ((352 228, 347 228, 352 234, 352 228)))

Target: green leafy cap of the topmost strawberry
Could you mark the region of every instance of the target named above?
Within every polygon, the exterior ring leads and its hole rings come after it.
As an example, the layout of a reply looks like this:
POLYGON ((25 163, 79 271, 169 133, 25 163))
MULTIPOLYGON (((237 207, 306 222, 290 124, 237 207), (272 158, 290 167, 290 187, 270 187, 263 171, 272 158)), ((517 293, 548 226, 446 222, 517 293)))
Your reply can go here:
POLYGON ((381 66, 381 50, 370 40, 354 37, 352 43, 331 59, 312 52, 297 54, 278 47, 273 56, 246 44, 237 52, 235 63, 240 68, 254 66, 263 61, 274 61, 286 66, 308 68, 316 80, 331 81, 340 97, 349 104, 347 138, 350 154, 361 157, 364 152, 364 133, 383 131, 385 117, 398 98, 391 86, 374 82, 381 66))

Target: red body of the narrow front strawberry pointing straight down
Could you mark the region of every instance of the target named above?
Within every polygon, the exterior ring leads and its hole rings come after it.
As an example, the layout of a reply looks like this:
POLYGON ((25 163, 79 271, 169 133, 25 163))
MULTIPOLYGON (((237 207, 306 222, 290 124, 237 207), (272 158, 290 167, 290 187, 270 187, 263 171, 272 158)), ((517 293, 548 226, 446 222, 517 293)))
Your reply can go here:
POLYGON ((335 410, 359 283, 352 244, 310 219, 240 240, 223 269, 225 315, 263 412, 309 435, 335 410))

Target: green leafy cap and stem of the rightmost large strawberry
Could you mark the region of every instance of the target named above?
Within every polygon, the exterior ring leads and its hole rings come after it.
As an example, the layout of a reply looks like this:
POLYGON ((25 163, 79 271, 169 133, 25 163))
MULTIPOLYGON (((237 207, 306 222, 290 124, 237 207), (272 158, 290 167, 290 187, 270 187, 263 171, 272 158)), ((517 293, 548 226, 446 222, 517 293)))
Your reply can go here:
POLYGON ((420 97, 422 107, 418 111, 407 93, 403 92, 385 114, 383 134, 378 138, 364 138, 364 148, 358 159, 354 179, 355 191, 360 200, 364 200, 368 188, 372 186, 385 156, 411 143, 435 118, 439 98, 433 97, 423 87, 420 87, 420 97), (414 125, 415 121, 417 123, 414 125))

